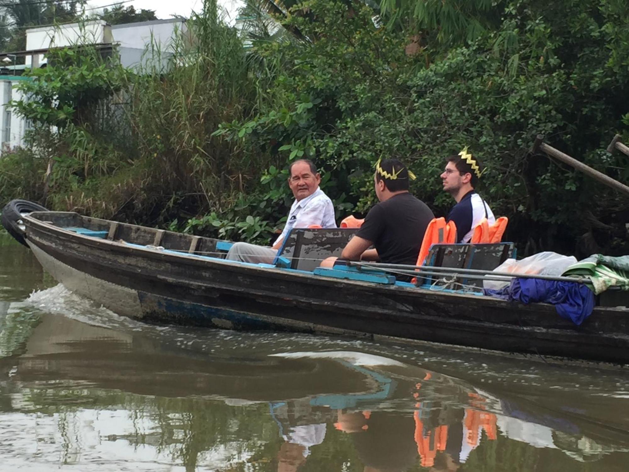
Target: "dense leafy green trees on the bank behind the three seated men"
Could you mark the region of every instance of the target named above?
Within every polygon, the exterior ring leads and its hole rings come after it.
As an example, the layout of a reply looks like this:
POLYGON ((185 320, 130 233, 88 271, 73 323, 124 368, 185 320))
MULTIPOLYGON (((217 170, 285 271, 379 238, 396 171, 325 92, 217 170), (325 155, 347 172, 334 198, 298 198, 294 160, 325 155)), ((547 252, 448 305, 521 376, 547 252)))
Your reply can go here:
POLYGON ((508 237, 522 249, 572 252, 589 241, 583 254, 625 250, 615 222, 627 203, 529 149, 544 133, 601 171, 629 177, 626 157, 601 150, 610 130, 626 129, 628 6, 512 1, 496 31, 466 47, 438 45, 447 55, 426 63, 421 49, 409 50, 409 30, 378 26, 371 9, 354 5, 352 14, 328 0, 295 7, 309 17, 285 22, 315 42, 254 42, 282 66, 259 115, 218 133, 289 161, 316 156, 334 176, 326 191, 359 211, 372 205, 372 165, 387 155, 410 163, 413 191, 444 214, 452 201, 438 185, 443 157, 470 145, 488 167, 482 192, 509 216, 508 237))

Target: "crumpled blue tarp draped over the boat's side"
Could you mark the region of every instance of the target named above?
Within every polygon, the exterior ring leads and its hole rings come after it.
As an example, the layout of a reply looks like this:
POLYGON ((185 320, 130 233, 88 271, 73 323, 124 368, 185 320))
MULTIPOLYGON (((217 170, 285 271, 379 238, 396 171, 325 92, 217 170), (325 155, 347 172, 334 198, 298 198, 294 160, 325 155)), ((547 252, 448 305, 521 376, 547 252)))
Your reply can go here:
POLYGON ((499 290, 485 290, 486 295, 503 300, 529 303, 550 303, 560 317, 580 325, 594 309, 594 293, 584 284, 542 279, 513 279, 499 290))

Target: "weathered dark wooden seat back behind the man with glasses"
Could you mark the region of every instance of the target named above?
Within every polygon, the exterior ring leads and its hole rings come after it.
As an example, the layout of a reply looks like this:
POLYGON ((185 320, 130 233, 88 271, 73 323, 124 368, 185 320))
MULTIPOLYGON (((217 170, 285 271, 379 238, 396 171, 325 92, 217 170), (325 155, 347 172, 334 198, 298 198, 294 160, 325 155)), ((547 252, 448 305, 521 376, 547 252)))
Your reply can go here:
MULTIPOLYGON (((493 271, 509 257, 515 256, 512 242, 495 244, 434 244, 426 257, 426 266, 452 267, 453 269, 479 269, 493 271)), ((433 283, 438 277, 427 277, 423 283, 433 283)), ((482 288, 482 280, 457 278, 467 286, 482 288)))

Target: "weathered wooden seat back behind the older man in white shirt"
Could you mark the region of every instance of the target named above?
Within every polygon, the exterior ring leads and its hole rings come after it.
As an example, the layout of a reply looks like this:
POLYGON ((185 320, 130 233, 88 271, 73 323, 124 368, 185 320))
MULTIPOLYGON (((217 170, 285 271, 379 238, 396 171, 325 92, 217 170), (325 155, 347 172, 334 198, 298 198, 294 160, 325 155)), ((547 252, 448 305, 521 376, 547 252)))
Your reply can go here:
POLYGON ((293 228, 273 263, 311 272, 326 257, 339 257, 357 231, 358 228, 293 228))

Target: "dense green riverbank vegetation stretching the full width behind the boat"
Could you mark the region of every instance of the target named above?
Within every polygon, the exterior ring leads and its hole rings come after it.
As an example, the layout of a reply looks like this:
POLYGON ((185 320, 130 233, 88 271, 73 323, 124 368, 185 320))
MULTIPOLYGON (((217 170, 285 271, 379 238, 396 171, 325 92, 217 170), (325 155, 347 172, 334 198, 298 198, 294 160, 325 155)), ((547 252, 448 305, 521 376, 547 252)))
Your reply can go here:
POLYGON ((238 35, 207 0, 142 70, 55 52, 13 104, 33 128, 3 154, 0 203, 264 242, 291 160, 315 160, 339 219, 374 203, 379 157, 408 162, 444 215, 443 157, 469 145, 520 254, 628 252, 626 197, 530 153, 542 133, 629 181, 628 158, 604 151, 629 137, 625 2, 250 0, 242 16, 238 35))

